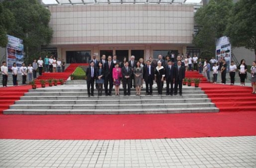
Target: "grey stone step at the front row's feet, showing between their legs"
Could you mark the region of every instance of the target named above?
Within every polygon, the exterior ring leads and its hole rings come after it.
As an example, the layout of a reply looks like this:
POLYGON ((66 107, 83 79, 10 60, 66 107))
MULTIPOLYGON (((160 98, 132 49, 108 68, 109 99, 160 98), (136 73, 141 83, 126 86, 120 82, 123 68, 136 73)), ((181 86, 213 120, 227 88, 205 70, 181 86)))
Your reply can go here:
MULTIPOLYGON (((122 94, 122 92, 120 92, 122 94)), ((143 92, 141 92, 143 94, 143 92)), ((157 92, 156 92, 157 93, 157 92)), ((163 94, 165 94, 166 91, 163 91, 163 94)), ((202 94, 204 93, 204 91, 201 90, 194 90, 194 91, 190 91, 190 90, 183 90, 182 91, 183 94, 202 94)), ((102 92, 102 94, 104 94, 102 92)), ((115 93, 113 93, 115 94, 115 93)), ((136 94, 135 90, 131 91, 131 94, 136 94)), ((145 92, 144 92, 145 94, 145 92)), ((52 91, 52 92, 27 92, 25 93, 26 96, 41 96, 41 95, 45 95, 45 96, 56 96, 56 95, 88 95, 87 91, 80 91, 80 92, 56 92, 56 91, 52 91)), ((98 91, 95 91, 95 95, 98 95, 98 91)))

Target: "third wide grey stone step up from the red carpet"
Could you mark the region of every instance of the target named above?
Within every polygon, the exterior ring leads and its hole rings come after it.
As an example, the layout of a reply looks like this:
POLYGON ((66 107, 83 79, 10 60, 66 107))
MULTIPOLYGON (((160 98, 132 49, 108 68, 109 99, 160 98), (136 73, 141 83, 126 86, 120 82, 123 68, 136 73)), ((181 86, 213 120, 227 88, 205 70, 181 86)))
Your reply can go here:
MULTIPOLYGON (((204 99, 198 99, 198 98, 194 98, 194 99, 176 99, 176 97, 174 97, 174 99, 170 99, 170 98, 166 98, 166 99, 131 99, 129 101, 125 100, 125 99, 119 99, 119 100, 115 100, 115 103, 118 104, 142 104, 142 103, 205 103, 205 102, 211 102, 210 99, 208 98, 204 98, 204 99)), ((16 101, 15 104, 90 104, 90 103, 103 103, 103 104, 113 104, 112 100, 109 99, 98 99, 98 100, 53 100, 53 101, 49 101, 49 100, 19 100, 16 101)))

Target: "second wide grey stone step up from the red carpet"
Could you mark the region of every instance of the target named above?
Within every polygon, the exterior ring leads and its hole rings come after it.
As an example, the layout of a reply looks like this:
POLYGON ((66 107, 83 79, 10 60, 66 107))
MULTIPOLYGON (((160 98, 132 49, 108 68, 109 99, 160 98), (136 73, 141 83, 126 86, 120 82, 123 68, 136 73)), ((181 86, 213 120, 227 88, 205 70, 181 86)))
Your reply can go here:
POLYGON ((206 103, 144 103, 144 104, 44 104, 44 105, 11 105, 10 109, 148 109, 148 108, 190 108, 190 107, 215 107, 215 104, 206 103))

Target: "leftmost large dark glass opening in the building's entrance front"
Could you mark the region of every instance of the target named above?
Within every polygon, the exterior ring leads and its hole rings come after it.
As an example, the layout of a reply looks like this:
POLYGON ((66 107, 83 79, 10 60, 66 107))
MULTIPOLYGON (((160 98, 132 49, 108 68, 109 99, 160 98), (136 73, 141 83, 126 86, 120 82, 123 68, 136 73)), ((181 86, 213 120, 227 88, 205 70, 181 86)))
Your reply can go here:
POLYGON ((67 51, 67 63, 90 63, 91 51, 67 51))

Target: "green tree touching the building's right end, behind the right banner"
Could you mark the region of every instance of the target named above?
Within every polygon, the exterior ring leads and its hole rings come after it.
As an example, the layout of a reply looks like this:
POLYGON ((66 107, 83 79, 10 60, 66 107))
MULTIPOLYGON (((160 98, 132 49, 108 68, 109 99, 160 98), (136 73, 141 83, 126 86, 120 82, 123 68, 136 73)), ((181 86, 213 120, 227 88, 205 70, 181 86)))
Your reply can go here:
POLYGON ((195 14, 198 32, 194 35, 193 44, 208 57, 215 56, 216 39, 224 35, 232 6, 232 0, 210 0, 195 14))

